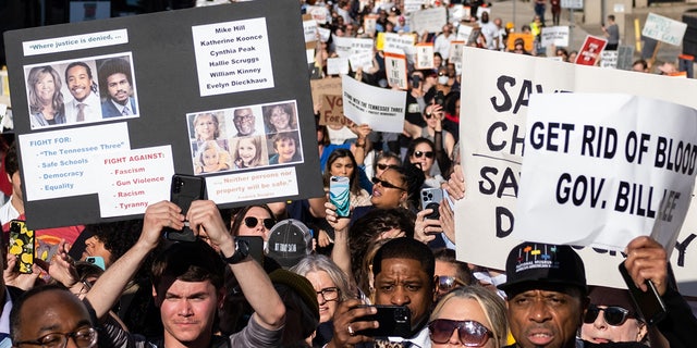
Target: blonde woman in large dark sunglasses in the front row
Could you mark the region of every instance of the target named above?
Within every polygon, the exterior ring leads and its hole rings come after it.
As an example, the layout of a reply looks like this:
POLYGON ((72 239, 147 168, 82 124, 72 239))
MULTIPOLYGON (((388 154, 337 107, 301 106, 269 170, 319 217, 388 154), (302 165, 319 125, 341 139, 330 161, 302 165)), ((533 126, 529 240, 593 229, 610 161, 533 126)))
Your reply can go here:
POLYGON ((433 348, 503 347, 509 332, 505 303, 484 287, 456 288, 438 301, 428 331, 433 348))

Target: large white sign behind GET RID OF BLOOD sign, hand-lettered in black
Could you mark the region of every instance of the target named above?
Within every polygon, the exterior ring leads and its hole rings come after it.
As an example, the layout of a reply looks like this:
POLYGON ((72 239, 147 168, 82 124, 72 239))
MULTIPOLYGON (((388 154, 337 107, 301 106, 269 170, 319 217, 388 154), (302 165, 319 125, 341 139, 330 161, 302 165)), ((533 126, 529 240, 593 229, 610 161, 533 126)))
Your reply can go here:
MULTIPOLYGON (((508 251, 521 241, 511 237, 511 233, 516 219, 530 95, 623 92, 697 108, 697 99, 686 97, 697 94, 697 82, 693 79, 567 64, 468 47, 464 48, 462 77, 478 83, 463 84, 461 91, 460 138, 467 190, 454 210, 457 258, 498 270, 505 268, 508 251)), ((566 108, 559 111, 564 112, 566 108)), ((672 258, 681 290, 695 296, 697 243, 688 241, 690 235, 697 234, 697 222, 689 224, 689 221, 688 212, 677 239, 681 247, 672 258), (680 263, 675 262, 678 258, 682 258, 680 263)), ((580 248, 579 252, 590 284, 624 286, 617 274, 604 272, 609 264, 622 261, 620 252, 590 247, 580 248)))

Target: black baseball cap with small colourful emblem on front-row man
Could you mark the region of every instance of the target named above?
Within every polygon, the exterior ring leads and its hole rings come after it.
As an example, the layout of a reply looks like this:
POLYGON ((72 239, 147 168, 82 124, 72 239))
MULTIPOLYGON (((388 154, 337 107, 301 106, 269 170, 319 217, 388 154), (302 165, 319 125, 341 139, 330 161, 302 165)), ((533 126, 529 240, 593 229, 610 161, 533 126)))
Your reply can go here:
POLYGON ((584 261, 570 246, 522 243, 509 253, 505 262, 506 282, 499 288, 511 290, 530 286, 575 286, 587 294, 584 261))

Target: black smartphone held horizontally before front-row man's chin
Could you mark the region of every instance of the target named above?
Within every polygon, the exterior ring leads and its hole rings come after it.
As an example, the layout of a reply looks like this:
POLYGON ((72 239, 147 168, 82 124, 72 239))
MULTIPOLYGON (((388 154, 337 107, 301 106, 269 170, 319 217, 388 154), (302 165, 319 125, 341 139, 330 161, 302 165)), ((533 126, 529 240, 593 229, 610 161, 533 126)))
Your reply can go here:
POLYGON ((377 321, 378 328, 357 332, 370 337, 400 336, 409 337, 412 332, 412 312, 406 306, 375 306, 378 312, 360 318, 362 321, 377 321))

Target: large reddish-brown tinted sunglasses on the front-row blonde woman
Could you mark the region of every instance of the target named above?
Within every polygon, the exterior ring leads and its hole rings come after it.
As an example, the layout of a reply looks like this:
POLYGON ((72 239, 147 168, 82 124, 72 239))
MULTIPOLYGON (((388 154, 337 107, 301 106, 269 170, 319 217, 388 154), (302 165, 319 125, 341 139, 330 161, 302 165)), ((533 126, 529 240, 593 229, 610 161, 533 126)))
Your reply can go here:
POLYGON ((489 337, 493 337, 491 331, 473 320, 437 319, 428 323, 431 340, 441 345, 450 340, 455 330, 465 347, 481 347, 487 344, 489 337))

